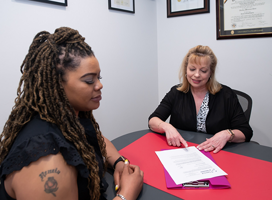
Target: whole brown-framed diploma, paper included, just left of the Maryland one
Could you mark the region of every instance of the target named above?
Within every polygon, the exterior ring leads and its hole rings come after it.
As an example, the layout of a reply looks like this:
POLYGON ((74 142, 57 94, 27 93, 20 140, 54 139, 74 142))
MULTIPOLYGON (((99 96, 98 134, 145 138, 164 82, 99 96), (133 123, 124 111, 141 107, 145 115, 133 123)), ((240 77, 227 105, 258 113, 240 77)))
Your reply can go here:
POLYGON ((210 12, 210 0, 167 0, 167 17, 210 12))

